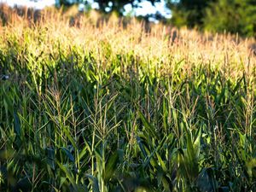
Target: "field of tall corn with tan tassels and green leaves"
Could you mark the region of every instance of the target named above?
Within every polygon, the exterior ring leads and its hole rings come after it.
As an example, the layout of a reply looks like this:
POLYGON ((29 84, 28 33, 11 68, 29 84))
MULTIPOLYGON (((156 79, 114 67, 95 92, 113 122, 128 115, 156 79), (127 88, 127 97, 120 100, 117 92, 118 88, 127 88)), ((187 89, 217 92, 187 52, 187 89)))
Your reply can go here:
POLYGON ((1 191, 255 191, 253 39, 1 7, 1 191))

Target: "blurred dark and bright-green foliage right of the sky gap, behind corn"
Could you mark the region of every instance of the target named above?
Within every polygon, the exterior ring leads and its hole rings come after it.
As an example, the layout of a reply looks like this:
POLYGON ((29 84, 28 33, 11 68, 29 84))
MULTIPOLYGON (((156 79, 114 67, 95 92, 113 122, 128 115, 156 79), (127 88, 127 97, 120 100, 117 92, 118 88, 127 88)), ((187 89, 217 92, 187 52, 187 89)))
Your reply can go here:
POLYGON ((169 0, 167 5, 176 26, 256 37, 255 0, 169 0))

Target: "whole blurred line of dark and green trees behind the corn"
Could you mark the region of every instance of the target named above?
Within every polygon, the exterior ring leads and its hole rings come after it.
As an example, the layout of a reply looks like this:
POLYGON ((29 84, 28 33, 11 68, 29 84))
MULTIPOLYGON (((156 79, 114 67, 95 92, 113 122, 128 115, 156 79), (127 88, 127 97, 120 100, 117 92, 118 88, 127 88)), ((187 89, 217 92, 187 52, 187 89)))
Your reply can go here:
MULTIPOLYGON (((143 0, 94 0, 102 12, 115 11, 124 14, 126 4, 137 8, 143 0), (108 11, 107 11, 108 10, 108 11)), ((153 5, 160 0, 149 0, 153 5)), ((189 26, 212 32, 238 32, 256 38, 256 0, 165 0, 166 8, 171 9, 172 18, 167 20, 160 13, 154 16, 174 26, 189 26)), ((86 0, 59 0, 59 5, 70 6, 86 0)))

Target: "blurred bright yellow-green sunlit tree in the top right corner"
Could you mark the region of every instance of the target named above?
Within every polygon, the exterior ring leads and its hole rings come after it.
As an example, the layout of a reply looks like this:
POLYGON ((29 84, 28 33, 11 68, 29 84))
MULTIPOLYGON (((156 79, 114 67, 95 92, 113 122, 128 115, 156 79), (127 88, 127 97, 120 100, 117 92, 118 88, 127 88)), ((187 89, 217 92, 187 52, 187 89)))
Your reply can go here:
POLYGON ((218 0, 206 9, 204 27, 256 37, 256 0, 218 0))

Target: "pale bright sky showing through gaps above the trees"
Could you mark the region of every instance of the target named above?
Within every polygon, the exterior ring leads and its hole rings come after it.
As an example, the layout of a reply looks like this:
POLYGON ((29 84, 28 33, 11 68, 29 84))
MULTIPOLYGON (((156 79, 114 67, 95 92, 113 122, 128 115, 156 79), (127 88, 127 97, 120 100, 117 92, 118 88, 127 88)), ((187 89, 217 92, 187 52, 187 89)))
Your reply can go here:
MULTIPOLYGON (((89 0, 93 9, 97 8, 97 3, 93 3, 93 0, 89 0)), ((38 0, 37 2, 30 0, 0 0, 0 3, 7 3, 10 6, 17 5, 26 5, 28 7, 32 7, 35 9, 43 9, 45 6, 51 6, 55 4, 55 0, 38 0)), ((132 13, 133 15, 147 15, 147 14, 155 14, 156 11, 159 11, 162 15, 165 15, 166 18, 171 17, 170 10, 165 8, 164 0, 161 0, 160 3, 155 3, 155 6, 148 1, 143 1, 142 3, 138 3, 141 8, 137 8, 132 10, 131 4, 125 5, 125 13, 132 13)))

